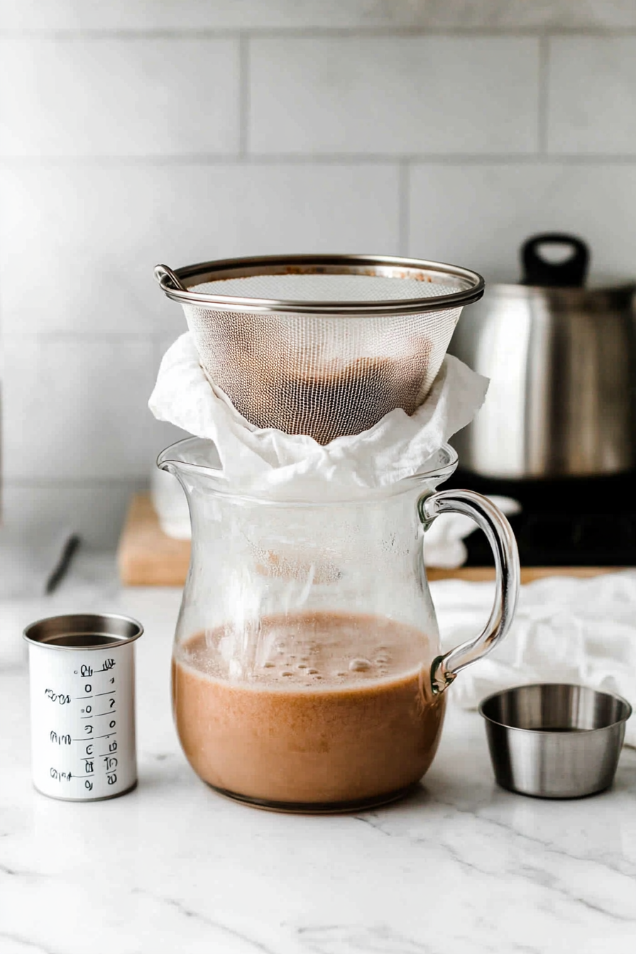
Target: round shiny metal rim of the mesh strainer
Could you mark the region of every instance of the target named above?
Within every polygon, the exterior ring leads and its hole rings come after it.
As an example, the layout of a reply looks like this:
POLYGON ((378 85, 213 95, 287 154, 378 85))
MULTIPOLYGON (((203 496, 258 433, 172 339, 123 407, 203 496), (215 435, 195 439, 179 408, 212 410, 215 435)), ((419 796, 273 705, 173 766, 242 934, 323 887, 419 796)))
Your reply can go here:
MULTIPOLYGON (((378 275, 381 277, 380 272, 378 275)), ((204 261, 174 270, 168 268, 167 265, 157 265, 154 269, 154 278, 168 298, 179 301, 181 304, 243 312, 296 312, 309 315, 362 317, 374 314, 412 315, 443 311, 448 308, 461 308, 463 305, 479 301, 482 298, 484 288, 482 276, 478 272, 462 268, 460 265, 450 265, 428 259, 402 259, 385 255, 253 256, 250 258, 204 261), (388 278, 396 277, 391 275, 390 272, 400 270, 414 273, 413 275, 403 276, 404 278, 417 278, 418 273, 437 273, 440 277, 447 276, 464 280, 467 282, 467 287, 446 295, 433 295, 421 299, 387 299, 386 301, 286 301, 283 299, 239 298, 236 295, 209 295, 203 292, 190 291, 191 285, 203 284, 211 280, 277 274, 364 275, 368 274, 365 270, 370 268, 386 270, 386 277, 388 278), (312 269, 314 270, 312 271, 312 269)))

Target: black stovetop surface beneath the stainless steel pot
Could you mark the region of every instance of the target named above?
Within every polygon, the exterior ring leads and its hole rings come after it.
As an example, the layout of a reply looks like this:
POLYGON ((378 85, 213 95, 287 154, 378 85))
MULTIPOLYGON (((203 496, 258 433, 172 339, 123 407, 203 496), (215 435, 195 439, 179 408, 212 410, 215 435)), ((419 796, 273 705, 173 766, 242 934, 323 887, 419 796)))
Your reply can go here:
MULTIPOLYGON (((508 519, 522 566, 636 566, 636 474, 558 481, 502 481, 458 471, 444 487, 466 487, 518 500, 523 512, 508 519)), ((467 566, 490 566, 480 532, 464 541, 467 566)))

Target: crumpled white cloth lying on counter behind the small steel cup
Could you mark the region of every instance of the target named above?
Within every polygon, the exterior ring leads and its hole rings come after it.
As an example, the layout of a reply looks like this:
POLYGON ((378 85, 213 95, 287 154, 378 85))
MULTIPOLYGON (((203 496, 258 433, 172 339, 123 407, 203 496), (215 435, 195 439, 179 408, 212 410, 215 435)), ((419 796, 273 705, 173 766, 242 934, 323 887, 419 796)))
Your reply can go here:
MULTIPOLYGON (((494 584, 431 584, 444 650, 474 636, 492 606, 494 584)), ((462 670, 449 689, 475 709, 484 696, 532 682, 572 682, 623 695, 636 710, 636 570, 588 579, 551 576, 522 587, 501 646, 462 670)), ((626 744, 636 747, 636 715, 626 744)))

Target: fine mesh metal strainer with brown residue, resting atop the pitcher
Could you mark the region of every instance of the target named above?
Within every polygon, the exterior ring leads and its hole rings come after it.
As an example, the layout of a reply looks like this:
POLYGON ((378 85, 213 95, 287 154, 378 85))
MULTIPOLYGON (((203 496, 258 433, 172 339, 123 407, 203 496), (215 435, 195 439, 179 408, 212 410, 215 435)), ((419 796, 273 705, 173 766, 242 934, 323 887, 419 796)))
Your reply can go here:
POLYGON ((476 272, 383 256, 225 259, 154 276, 238 412, 323 445, 396 407, 412 414, 462 306, 483 294, 476 272))

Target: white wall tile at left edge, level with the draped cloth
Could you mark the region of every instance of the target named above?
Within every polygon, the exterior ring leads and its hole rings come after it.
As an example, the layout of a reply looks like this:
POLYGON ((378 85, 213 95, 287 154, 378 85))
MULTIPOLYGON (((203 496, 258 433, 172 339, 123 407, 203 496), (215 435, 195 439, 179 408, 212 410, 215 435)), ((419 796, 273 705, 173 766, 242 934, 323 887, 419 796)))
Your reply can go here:
POLYGON ((6 335, 4 473, 20 480, 144 477, 156 423, 154 343, 6 335))

